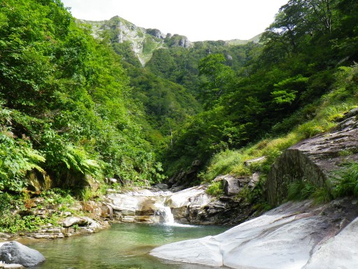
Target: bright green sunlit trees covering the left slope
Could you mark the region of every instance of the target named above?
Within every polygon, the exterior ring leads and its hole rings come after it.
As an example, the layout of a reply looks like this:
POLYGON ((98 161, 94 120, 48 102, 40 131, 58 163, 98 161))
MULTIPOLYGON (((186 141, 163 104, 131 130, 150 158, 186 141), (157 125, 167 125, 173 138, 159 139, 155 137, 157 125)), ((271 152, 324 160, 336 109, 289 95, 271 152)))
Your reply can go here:
POLYGON ((143 109, 112 48, 58 0, 0 1, 0 26, 0 191, 20 191, 34 169, 57 181, 157 180, 143 109))

